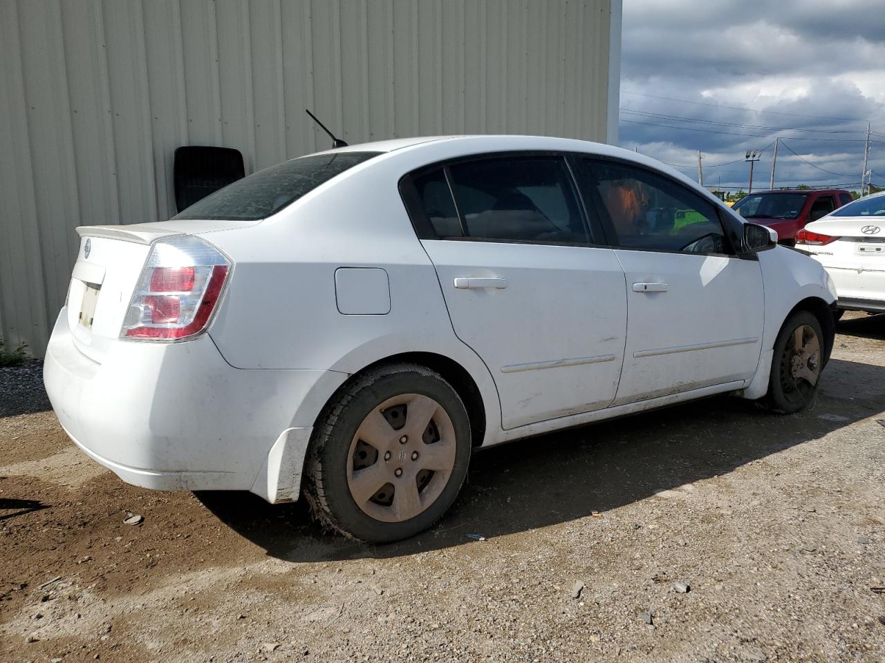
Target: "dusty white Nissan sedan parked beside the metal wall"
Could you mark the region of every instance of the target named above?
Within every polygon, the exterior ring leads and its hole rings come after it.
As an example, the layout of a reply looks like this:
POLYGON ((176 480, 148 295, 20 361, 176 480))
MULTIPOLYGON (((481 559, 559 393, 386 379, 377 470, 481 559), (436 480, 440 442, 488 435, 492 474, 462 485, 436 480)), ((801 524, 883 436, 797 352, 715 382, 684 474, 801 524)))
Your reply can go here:
POLYGON ((584 141, 334 149, 78 231, 44 369, 74 442, 366 541, 427 529, 479 447, 723 392, 796 412, 833 346, 819 263, 584 141))

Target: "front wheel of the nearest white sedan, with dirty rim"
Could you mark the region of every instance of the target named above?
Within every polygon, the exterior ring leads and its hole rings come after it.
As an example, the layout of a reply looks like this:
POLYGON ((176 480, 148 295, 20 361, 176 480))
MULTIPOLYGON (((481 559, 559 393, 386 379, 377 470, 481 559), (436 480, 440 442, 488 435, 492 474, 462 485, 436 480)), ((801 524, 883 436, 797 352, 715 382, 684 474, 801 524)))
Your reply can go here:
POLYGON ((818 318, 808 311, 789 316, 774 341, 766 407, 782 415, 807 408, 817 395, 824 362, 824 336, 818 318))

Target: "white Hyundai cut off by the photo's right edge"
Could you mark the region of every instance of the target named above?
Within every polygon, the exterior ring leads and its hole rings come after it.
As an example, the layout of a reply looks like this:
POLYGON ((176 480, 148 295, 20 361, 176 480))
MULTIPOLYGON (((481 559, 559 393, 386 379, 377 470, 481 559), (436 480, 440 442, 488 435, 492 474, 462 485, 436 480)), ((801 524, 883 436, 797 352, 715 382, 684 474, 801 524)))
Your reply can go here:
POLYGON ((885 312, 885 192, 806 225, 796 244, 833 278, 840 311, 885 312))

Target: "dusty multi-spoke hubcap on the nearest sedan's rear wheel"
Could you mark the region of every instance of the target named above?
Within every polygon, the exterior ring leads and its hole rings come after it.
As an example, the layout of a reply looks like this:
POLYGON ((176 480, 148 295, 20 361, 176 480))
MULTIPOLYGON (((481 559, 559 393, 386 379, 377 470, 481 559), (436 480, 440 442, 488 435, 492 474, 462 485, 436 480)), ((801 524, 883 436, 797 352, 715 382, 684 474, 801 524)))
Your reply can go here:
POLYGON ((443 492, 455 448, 454 426, 435 400, 416 393, 385 400, 350 442, 350 496, 375 520, 409 520, 443 492))

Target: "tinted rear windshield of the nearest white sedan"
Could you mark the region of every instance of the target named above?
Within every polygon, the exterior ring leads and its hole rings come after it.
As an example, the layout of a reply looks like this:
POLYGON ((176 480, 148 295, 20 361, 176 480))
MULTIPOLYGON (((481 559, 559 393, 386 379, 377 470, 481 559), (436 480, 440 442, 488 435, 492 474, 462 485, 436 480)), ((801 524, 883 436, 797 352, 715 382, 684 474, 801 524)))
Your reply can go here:
POLYGON ((337 152, 302 156, 238 179, 173 219, 255 221, 269 217, 320 184, 380 152, 337 152))

